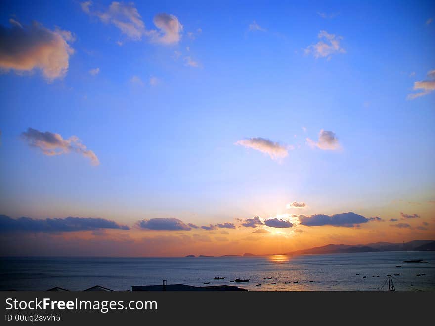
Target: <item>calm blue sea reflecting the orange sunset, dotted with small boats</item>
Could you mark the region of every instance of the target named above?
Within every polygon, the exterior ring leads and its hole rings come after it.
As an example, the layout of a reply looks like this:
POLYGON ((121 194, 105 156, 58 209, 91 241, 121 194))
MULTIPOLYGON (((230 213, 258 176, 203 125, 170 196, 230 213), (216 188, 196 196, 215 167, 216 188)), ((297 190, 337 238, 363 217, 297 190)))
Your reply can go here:
POLYGON ((1 291, 41 291, 54 286, 80 291, 94 285, 131 290, 134 285, 162 284, 163 279, 168 284, 237 285, 249 291, 388 291, 388 283, 382 287, 387 274, 392 275, 396 291, 435 291, 435 252, 201 258, 0 258, 1 291), (414 259, 427 263, 402 262, 414 259), (396 273, 400 275, 394 276, 396 273), (215 276, 225 279, 214 280, 215 276), (264 280, 265 277, 272 279, 264 280), (250 281, 230 282, 236 278, 250 281), (309 282, 311 280, 313 282, 309 282))

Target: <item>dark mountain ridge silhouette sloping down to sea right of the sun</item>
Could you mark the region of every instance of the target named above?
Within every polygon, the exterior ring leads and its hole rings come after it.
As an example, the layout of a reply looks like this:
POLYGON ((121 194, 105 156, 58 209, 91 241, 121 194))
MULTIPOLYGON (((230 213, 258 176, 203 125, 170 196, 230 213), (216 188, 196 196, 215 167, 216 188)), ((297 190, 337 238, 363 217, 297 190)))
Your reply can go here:
POLYGON ((309 255, 309 254, 341 254, 353 252, 376 251, 427 251, 435 250, 434 240, 414 240, 406 243, 376 242, 366 245, 327 244, 322 247, 286 252, 284 255, 309 255))

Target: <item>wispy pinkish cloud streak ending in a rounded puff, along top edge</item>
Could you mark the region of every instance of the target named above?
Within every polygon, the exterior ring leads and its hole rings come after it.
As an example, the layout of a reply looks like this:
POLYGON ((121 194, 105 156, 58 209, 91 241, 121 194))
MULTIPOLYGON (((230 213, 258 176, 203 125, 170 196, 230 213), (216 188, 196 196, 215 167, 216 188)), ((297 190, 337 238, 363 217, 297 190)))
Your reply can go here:
POLYGON ((123 34, 133 41, 139 41, 142 36, 149 37, 153 42, 162 44, 178 43, 183 26, 174 15, 159 13, 154 16, 154 25, 160 30, 148 30, 133 2, 113 1, 103 11, 91 10, 92 2, 81 4, 82 10, 90 16, 98 17, 105 24, 115 25, 123 34))

